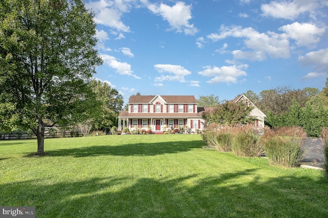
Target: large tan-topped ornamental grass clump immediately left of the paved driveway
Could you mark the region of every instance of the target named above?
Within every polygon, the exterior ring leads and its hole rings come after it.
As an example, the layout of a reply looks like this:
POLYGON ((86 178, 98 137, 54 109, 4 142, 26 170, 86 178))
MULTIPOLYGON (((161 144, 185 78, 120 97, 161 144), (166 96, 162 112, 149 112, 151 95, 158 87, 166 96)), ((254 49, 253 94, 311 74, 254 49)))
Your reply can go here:
POLYGON ((267 130, 262 137, 265 155, 272 165, 299 166, 305 155, 302 147, 306 133, 301 127, 281 127, 267 130))

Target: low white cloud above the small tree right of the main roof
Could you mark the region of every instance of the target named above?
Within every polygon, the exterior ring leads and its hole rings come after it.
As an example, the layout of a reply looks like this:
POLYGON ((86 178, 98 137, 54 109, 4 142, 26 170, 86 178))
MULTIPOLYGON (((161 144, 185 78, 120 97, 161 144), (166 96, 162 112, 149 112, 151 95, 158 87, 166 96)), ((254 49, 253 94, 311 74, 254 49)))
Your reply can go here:
POLYGON ((198 74, 207 77, 213 77, 208 81, 208 83, 215 84, 219 82, 233 82, 236 83, 238 77, 247 76, 244 71, 248 68, 247 64, 241 64, 239 66, 223 66, 223 67, 204 67, 206 70, 198 72, 198 74))

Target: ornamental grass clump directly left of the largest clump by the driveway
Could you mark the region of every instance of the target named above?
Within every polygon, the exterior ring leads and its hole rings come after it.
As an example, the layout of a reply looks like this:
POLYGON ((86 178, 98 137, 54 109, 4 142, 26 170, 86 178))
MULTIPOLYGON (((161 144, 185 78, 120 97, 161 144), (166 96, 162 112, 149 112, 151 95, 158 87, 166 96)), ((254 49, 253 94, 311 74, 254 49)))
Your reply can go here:
POLYGON ((258 157, 263 153, 261 137, 253 126, 236 126, 234 132, 232 151, 236 156, 258 157))

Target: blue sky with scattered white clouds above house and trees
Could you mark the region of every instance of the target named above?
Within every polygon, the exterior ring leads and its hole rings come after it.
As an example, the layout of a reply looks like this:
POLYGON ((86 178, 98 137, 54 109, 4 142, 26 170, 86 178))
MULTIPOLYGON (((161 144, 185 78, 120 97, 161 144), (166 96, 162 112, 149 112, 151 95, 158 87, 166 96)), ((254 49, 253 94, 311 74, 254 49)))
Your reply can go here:
POLYGON ((328 0, 86 0, 104 64, 125 100, 324 88, 328 0))

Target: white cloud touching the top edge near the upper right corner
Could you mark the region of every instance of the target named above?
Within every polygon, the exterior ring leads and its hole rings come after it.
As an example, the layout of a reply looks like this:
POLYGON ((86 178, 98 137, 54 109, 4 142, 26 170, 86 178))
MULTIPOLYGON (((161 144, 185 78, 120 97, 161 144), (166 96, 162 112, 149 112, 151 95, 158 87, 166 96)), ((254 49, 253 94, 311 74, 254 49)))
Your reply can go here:
POLYGON ((261 5, 261 10, 264 16, 293 20, 302 13, 312 12, 319 6, 318 2, 320 0, 272 1, 261 5))

